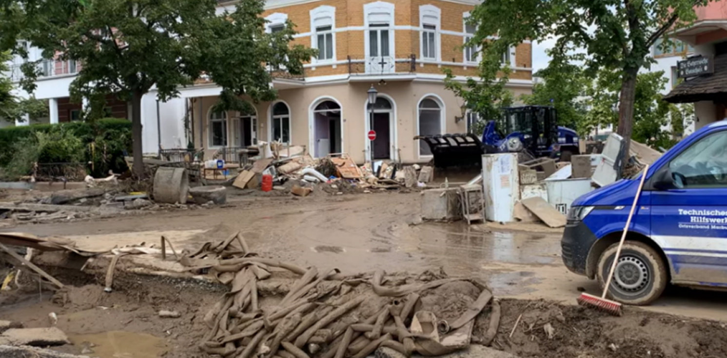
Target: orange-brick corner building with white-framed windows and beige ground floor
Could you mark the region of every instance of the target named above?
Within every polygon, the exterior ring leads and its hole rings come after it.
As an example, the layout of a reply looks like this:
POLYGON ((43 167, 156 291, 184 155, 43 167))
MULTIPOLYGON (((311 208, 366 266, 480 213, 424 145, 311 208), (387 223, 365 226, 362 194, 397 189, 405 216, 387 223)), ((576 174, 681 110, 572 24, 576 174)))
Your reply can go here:
MULTIPOLYGON (((268 1, 267 30, 286 20, 294 43, 318 49, 302 78, 275 78, 278 99, 254 105, 255 113, 212 113, 214 84, 182 90, 193 115, 196 147, 240 147, 256 139, 305 145, 316 157, 348 152, 358 162, 374 158, 422 162, 427 147, 417 134, 462 133, 462 99, 446 90, 443 68, 458 79, 476 76, 476 54, 462 44, 475 29, 465 25, 475 0, 277 0, 268 1), (378 99, 371 119, 366 91, 378 99), (374 129, 371 148, 366 133, 374 129)), ((234 4, 222 4, 233 10, 234 4)), ((513 46, 510 89, 529 93, 531 44, 513 46)), ((464 114, 464 115, 463 115, 464 114)))

